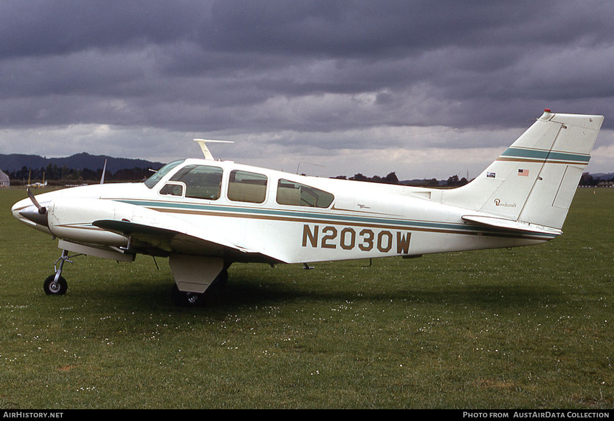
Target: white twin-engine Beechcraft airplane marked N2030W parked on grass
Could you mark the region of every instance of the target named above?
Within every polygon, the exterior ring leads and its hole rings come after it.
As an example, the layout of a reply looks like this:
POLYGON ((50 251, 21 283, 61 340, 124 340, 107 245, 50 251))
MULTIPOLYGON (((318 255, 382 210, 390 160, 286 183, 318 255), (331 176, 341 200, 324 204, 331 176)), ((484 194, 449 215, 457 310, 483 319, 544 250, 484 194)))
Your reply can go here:
POLYGON ((476 179, 434 189, 298 176, 202 159, 166 164, 142 183, 67 188, 23 199, 15 218, 69 252, 117 261, 168 257, 173 299, 195 305, 233 262, 418 257, 548 241, 561 228, 604 117, 546 109, 476 179))

